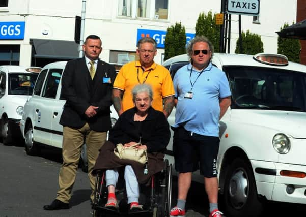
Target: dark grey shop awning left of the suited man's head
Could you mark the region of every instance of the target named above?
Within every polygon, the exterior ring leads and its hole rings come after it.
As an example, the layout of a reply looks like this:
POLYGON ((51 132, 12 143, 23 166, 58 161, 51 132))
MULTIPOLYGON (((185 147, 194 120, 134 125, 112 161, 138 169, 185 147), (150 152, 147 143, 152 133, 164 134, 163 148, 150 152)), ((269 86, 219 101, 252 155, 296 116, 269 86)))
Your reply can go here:
POLYGON ((30 39, 34 45, 34 57, 52 59, 75 59, 79 56, 79 45, 74 41, 30 39))

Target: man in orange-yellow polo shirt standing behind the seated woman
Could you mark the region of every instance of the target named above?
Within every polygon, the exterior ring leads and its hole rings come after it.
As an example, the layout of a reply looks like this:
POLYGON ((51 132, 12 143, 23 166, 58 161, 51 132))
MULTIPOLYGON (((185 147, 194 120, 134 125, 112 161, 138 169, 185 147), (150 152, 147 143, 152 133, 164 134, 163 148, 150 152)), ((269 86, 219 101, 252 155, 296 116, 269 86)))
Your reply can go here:
POLYGON ((133 108, 131 90, 137 84, 146 83, 153 89, 152 107, 168 117, 174 106, 175 94, 170 73, 165 67, 154 63, 153 59, 157 52, 154 39, 141 38, 137 47, 139 61, 125 64, 115 79, 112 92, 114 107, 119 116, 133 108))

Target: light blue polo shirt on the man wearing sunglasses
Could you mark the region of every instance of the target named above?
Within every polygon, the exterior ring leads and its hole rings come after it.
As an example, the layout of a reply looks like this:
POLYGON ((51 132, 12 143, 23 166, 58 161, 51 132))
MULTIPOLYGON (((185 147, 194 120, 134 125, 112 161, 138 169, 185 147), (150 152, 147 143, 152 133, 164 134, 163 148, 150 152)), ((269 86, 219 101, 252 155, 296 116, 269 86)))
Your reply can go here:
POLYGON ((191 68, 191 64, 183 66, 173 79, 175 97, 178 98, 173 127, 183 126, 193 133, 218 137, 219 99, 231 96, 228 79, 211 63, 202 73, 194 68, 191 72, 191 68), (190 81, 192 84, 196 81, 192 90, 190 81), (192 99, 184 98, 188 91, 193 93, 192 99))

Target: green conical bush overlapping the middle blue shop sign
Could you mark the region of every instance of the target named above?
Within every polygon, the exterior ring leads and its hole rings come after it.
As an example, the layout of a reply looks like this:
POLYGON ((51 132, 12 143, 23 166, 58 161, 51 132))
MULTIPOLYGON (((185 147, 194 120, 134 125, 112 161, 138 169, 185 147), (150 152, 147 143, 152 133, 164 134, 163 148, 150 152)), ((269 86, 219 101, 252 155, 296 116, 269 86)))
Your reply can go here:
POLYGON ((181 23, 175 23, 167 28, 164 47, 163 60, 186 53, 186 30, 181 23))

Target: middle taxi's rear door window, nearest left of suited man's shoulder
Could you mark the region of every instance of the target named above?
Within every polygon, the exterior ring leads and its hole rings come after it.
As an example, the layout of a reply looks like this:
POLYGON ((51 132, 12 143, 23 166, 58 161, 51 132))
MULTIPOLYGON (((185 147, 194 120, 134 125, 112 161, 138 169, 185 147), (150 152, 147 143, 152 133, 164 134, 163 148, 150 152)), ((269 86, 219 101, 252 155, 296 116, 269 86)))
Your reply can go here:
POLYGON ((58 86, 62 76, 62 69, 50 69, 45 82, 42 97, 53 98, 57 96, 58 86))

